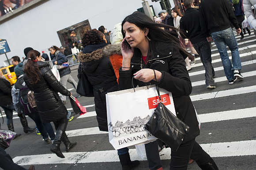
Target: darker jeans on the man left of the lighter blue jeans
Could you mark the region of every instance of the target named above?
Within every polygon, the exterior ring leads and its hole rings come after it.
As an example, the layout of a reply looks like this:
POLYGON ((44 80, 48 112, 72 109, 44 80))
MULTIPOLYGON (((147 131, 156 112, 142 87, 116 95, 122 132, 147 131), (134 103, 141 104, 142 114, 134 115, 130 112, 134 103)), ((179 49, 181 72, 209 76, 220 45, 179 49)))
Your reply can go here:
POLYGON ((193 43, 196 52, 199 54, 200 59, 203 63, 203 67, 205 69, 205 84, 215 85, 213 76, 215 76, 214 68, 211 65, 211 46, 210 43, 205 41, 201 41, 199 43, 193 43))

